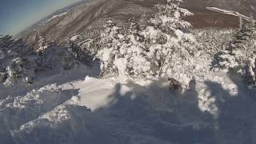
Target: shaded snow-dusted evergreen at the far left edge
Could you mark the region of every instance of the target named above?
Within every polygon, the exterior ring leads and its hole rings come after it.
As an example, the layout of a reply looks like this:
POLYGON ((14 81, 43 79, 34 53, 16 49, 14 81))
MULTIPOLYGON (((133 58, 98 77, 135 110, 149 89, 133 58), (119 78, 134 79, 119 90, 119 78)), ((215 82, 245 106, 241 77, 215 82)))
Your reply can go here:
POLYGON ((37 69, 37 56, 22 39, 0 38, 0 82, 12 86, 18 81, 32 83, 37 69))

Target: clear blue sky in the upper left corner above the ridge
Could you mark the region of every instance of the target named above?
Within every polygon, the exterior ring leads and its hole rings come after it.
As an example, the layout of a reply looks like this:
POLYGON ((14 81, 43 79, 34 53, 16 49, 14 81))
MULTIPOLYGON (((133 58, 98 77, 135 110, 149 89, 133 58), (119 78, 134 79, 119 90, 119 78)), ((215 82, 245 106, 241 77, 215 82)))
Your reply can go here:
POLYGON ((80 0, 0 0, 0 34, 17 34, 47 15, 80 0))

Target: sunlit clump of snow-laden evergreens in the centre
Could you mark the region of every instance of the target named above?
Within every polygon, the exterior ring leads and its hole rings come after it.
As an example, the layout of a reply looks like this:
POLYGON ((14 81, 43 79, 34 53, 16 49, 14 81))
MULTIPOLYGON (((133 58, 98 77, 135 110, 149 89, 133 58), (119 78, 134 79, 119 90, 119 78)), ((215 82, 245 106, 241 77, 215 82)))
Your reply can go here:
POLYGON ((194 74, 194 55, 197 42, 182 17, 191 15, 179 7, 180 0, 166 0, 156 6, 158 14, 143 30, 130 18, 127 34, 108 21, 102 34, 102 73, 126 74, 134 77, 174 77, 190 81, 194 74), (191 74, 192 73, 192 74, 191 74))

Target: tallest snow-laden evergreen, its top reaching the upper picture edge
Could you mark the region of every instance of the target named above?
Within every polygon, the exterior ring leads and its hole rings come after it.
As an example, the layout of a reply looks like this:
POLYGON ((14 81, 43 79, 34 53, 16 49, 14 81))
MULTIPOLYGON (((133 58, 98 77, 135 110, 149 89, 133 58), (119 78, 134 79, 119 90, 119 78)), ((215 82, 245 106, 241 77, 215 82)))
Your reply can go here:
POLYGON ((186 85, 195 73, 197 42, 188 29, 190 23, 182 20, 191 13, 179 6, 181 2, 166 0, 166 4, 158 5, 158 14, 151 19, 153 26, 148 26, 144 34, 151 73, 186 85))

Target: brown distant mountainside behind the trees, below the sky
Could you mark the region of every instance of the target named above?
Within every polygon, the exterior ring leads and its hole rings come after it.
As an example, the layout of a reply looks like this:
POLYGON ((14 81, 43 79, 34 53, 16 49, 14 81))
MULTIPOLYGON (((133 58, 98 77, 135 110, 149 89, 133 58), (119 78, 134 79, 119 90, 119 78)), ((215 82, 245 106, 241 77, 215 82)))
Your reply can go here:
MULTIPOLYGON (((50 41, 64 41, 74 34, 102 26, 106 17, 117 19, 120 25, 125 25, 132 15, 140 18, 142 14, 153 14, 154 6, 164 0, 92 0, 72 6, 67 14, 54 18, 43 26, 33 26, 20 34, 29 44, 33 44, 38 35, 50 41)), ((206 6, 216 6, 226 10, 237 10, 242 14, 254 14, 256 2, 253 0, 184 0, 182 5, 195 15, 186 18, 194 27, 234 27, 238 26, 238 18, 228 14, 219 14, 206 10, 206 6), (248 9, 248 6, 250 8, 248 9)), ((55 13, 56 14, 56 13, 55 13)), ((51 14, 52 17, 54 14, 51 14)), ((47 18, 50 18, 47 17, 47 18)))

